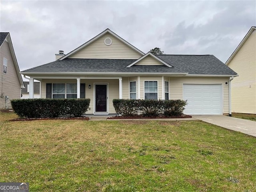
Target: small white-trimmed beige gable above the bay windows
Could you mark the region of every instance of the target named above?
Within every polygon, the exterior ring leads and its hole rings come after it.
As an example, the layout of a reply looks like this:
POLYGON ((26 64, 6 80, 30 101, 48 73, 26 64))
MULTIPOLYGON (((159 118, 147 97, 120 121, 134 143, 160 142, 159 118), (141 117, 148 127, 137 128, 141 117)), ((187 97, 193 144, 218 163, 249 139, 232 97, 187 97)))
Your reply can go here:
POLYGON ((151 52, 148 52, 138 60, 134 61, 132 64, 128 65, 127 67, 131 67, 134 65, 164 65, 167 67, 172 67, 170 64, 165 62, 164 60, 158 58, 151 52))

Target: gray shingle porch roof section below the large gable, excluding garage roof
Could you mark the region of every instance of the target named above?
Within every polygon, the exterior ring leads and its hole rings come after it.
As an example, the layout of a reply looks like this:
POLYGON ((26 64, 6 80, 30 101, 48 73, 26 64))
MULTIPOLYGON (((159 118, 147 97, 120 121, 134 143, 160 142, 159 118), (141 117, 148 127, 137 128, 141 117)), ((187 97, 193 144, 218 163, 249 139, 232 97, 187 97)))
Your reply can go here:
POLYGON ((64 59, 34 67, 22 72, 178 72, 166 66, 137 65, 126 67, 136 59, 64 59))

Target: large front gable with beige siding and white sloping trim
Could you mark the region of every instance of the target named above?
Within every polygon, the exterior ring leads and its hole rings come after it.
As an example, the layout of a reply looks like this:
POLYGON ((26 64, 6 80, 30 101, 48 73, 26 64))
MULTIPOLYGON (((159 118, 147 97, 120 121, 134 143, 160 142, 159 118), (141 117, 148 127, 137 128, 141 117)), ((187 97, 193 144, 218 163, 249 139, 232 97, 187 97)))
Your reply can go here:
POLYGON ((65 58, 137 59, 142 55, 144 55, 142 51, 132 46, 110 29, 106 29, 88 42, 60 58, 60 60, 65 58), (106 38, 112 40, 110 45, 105 44, 106 38))

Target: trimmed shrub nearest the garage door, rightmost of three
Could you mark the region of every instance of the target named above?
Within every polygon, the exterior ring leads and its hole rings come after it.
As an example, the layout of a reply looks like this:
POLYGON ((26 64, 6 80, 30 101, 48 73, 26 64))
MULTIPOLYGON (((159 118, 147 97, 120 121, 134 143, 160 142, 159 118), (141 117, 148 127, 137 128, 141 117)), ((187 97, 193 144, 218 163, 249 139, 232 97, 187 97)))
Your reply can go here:
POLYGON ((163 105, 163 115, 164 116, 181 116, 184 107, 187 105, 187 101, 177 99, 177 100, 165 100, 163 105))

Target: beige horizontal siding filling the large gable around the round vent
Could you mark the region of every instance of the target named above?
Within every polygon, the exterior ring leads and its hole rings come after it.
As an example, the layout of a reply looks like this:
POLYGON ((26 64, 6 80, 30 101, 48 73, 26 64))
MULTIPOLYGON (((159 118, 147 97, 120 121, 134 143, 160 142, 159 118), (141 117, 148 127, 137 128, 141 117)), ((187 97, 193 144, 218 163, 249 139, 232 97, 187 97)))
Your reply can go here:
POLYGON ((98 38, 68 58, 104 58, 104 59, 138 59, 142 55, 109 33, 98 38), (106 46, 104 40, 112 39, 112 44, 106 46))

